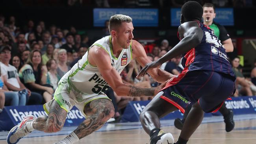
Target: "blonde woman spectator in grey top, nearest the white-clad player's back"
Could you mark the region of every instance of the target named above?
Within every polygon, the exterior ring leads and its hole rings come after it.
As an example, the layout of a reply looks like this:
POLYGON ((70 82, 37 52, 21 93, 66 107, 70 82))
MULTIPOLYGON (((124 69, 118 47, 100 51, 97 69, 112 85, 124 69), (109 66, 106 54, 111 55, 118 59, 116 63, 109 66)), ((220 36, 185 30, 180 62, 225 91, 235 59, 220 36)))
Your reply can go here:
POLYGON ((70 69, 71 69, 70 66, 67 65, 67 51, 65 49, 60 49, 58 52, 57 73, 60 77, 62 77, 70 69))

